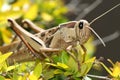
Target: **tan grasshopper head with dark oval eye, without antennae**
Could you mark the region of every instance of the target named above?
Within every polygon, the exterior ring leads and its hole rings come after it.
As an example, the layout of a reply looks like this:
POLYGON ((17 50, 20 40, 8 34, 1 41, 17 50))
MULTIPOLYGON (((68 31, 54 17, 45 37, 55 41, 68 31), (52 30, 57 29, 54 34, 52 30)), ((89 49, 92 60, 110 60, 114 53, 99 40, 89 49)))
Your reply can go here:
POLYGON ((76 32, 76 39, 80 42, 80 44, 85 43, 90 37, 90 24, 86 20, 80 20, 75 24, 75 32, 76 32))

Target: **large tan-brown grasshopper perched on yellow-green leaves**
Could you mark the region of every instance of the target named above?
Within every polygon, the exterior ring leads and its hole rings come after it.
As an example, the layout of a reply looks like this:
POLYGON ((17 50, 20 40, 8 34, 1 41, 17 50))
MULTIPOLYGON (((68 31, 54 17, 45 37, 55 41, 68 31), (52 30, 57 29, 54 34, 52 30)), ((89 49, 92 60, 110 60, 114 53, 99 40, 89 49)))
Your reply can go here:
MULTIPOLYGON (((81 48, 83 49, 84 54, 86 54, 86 48, 84 47, 84 43, 88 41, 91 35, 91 32, 93 32, 102 42, 102 44, 105 46, 105 43, 103 42, 103 40, 90 27, 90 25, 118 6, 120 6, 120 4, 114 6, 113 8, 103 13, 102 15, 93 19, 90 23, 88 23, 87 20, 70 21, 70 22, 62 23, 57 27, 54 27, 48 30, 44 30, 41 28, 38 29, 38 27, 35 26, 31 21, 24 20, 23 24, 27 24, 35 32, 37 32, 34 35, 25 31, 20 25, 16 23, 15 20, 8 19, 8 22, 10 22, 11 24, 11 28, 23 41, 23 43, 20 43, 20 41, 18 41, 16 43, 14 42, 13 44, 11 44, 14 46, 17 45, 16 48, 19 47, 18 43, 22 44, 21 48, 19 49, 18 52, 16 52, 15 55, 17 56, 18 53, 23 54, 25 53, 24 51, 26 51, 26 53, 32 53, 35 57, 43 60, 45 57, 49 56, 49 54, 47 53, 59 52, 63 49, 69 51, 75 46, 77 46, 77 44, 81 45, 81 48)), ((2 51, 2 49, 3 48, 0 48, 0 51, 2 51)))

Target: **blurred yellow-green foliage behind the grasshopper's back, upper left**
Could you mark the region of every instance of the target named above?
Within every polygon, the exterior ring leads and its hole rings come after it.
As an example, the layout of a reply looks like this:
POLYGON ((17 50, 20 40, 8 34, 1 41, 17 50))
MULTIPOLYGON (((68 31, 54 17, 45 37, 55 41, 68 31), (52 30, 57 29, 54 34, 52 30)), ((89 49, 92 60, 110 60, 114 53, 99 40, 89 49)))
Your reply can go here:
POLYGON ((39 27, 50 28, 67 21, 64 16, 66 12, 67 8, 61 0, 1 0, 0 45, 11 41, 12 34, 7 28, 8 18, 29 19, 39 27))

